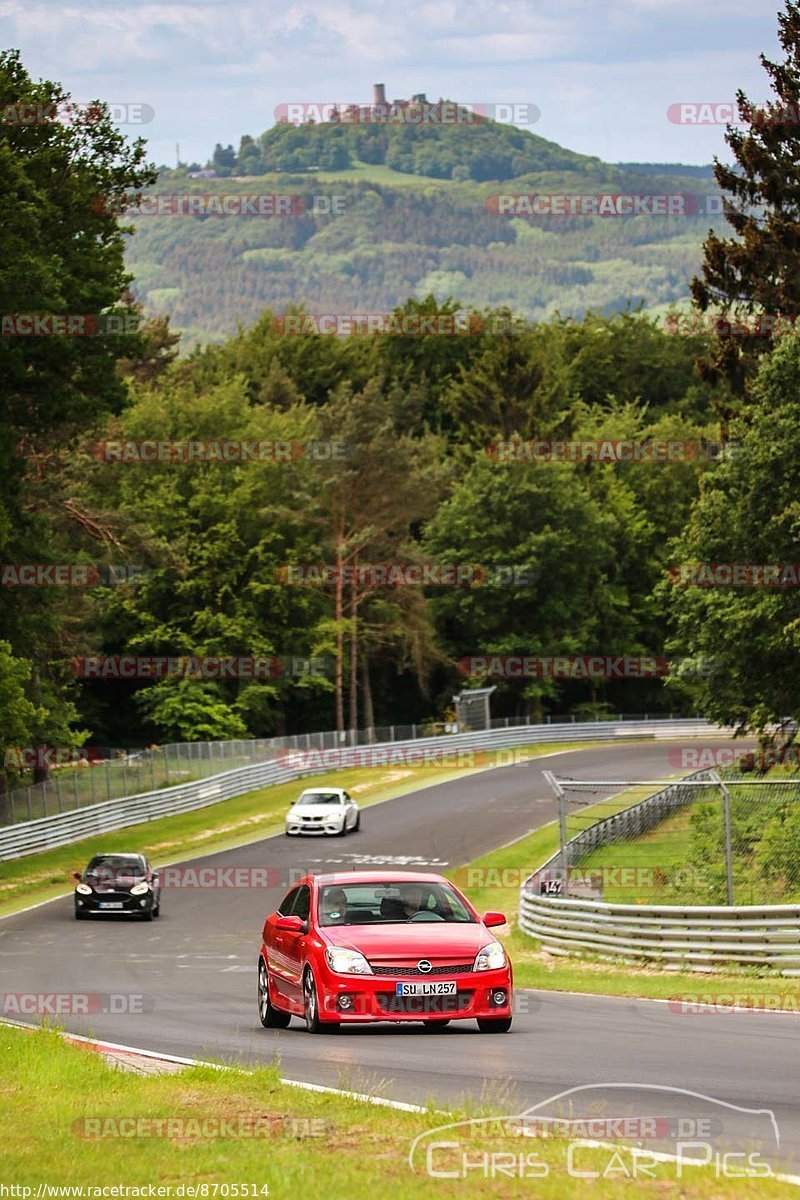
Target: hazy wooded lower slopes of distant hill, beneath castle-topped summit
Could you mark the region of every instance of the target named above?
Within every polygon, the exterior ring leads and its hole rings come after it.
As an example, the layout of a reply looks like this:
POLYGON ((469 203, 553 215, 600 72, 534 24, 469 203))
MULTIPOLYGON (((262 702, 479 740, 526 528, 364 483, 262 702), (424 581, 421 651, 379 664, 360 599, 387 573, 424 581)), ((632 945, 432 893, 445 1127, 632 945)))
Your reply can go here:
POLYGON ((154 191, 303 202, 295 216, 132 214, 127 262, 137 295, 148 311, 169 313, 186 346, 222 341, 264 308, 285 312, 299 298, 315 313, 389 312, 429 293, 439 302, 457 296, 476 308, 509 306, 529 320, 639 305, 666 311, 687 302, 709 226, 727 229, 715 216, 510 216, 493 206, 500 193, 714 191, 708 180, 621 172, 596 160, 503 185, 404 181, 368 167, 247 181, 166 173, 154 191))

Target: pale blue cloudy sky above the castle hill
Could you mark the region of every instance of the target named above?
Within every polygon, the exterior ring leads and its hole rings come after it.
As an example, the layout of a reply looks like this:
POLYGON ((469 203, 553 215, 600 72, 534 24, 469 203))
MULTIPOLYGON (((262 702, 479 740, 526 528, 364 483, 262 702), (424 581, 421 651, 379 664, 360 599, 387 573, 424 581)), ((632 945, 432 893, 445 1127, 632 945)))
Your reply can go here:
POLYGON ((157 162, 205 161, 261 133, 285 102, 426 92, 530 103, 534 133, 609 162, 727 158, 723 126, 674 124, 680 102, 766 98, 776 0, 0 0, 0 42, 76 100, 155 109, 157 162))

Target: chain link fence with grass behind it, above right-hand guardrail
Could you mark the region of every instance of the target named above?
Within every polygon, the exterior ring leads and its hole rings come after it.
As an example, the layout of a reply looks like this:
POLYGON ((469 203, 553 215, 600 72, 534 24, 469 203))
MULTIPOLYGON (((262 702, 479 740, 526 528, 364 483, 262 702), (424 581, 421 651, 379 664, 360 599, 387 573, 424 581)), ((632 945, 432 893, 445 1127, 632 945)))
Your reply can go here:
POLYGON ((800 904, 800 774, 738 767, 662 784, 547 773, 559 852, 541 894, 630 905, 800 904))

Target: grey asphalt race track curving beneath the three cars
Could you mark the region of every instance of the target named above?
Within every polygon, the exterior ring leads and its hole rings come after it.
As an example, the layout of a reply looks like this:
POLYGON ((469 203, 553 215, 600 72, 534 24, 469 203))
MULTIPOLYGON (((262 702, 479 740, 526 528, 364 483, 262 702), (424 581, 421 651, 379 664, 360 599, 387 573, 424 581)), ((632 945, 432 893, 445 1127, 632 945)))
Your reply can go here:
MULTIPOLYGON (((543 769, 658 779, 674 774, 667 758, 673 746, 620 744, 465 775, 366 809, 359 834, 272 836, 196 865, 266 866, 287 881, 297 868, 342 870, 384 862, 444 870, 554 818, 543 769)), ((492 1081, 489 1096, 506 1097, 509 1114, 582 1085, 682 1088, 741 1109, 771 1110, 781 1134, 777 1160, 798 1170, 800 1018, 682 1015, 654 1001, 524 992, 519 998, 528 1010, 517 1012, 504 1036, 482 1036, 471 1021, 438 1033, 389 1025, 309 1037, 299 1020, 288 1030, 267 1031, 257 1015, 255 961, 263 918, 285 890, 166 889, 163 916, 151 924, 119 917, 76 922, 71 898, 18 913, 0 922, 0 990, 144 996, 145 1013, 61 1021, 72 1032, 187 1057, 269 1062, 278 1056, 288 1079, 416 1103, 485 1097, 486 1080, 492 1081)), ((697 990, 714 991, 711 979, 698 977, 697 990)), ((670 1103, 675 1114, 687 1112, 688 1102, 678 1093, 674 1102, 662 1094, 657 1103, 650 1092, 621 1087, 603 1094, 614 1115, 622 1109, 664 1112, 670 1103)), ((732 1145, 752 1148, 764 1117, 730 1109, 723 1123, 732 1145)))

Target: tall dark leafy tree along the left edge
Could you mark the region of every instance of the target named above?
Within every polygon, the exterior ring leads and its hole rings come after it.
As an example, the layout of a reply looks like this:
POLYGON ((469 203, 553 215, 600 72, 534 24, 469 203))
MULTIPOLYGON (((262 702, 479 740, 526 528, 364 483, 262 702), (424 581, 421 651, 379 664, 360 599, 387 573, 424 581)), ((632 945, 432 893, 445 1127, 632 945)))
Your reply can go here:
MULTIPOLYGON (((54 110, 54 83, 34 83, 16 53, 0 55, 0 312, 98 316, 122 308, 124 238, 92 199, 155 179, 102 108, 70 124, 17 122, 23 106, 54 110)), ((4 330, 5 334, 5 330, 4 330)), ((78 433, 127 398, 110 336, 0 338, 0 563, 58 562, 83 521, 53 470, 78 433)), ((0 588, 0 750, 79 743, 65 660, 70 610, 54 589, 0 588), (23 691, 26 698, 23 698, 23 691)), ((2 780, 0 778, 0 791, 2 780)))

